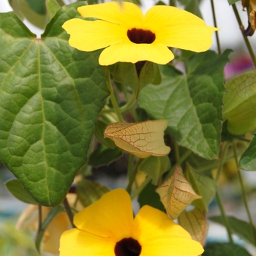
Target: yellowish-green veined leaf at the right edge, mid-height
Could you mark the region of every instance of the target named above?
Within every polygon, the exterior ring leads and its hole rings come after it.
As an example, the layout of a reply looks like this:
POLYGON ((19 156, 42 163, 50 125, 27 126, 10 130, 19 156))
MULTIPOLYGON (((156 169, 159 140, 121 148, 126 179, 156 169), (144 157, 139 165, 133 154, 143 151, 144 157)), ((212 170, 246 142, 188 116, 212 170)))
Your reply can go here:
POLYGON ((227 129, 243 134, 256 128, 256 71, 230 80, 226 84, 227 94, 223 97, 223 118, 227 129))

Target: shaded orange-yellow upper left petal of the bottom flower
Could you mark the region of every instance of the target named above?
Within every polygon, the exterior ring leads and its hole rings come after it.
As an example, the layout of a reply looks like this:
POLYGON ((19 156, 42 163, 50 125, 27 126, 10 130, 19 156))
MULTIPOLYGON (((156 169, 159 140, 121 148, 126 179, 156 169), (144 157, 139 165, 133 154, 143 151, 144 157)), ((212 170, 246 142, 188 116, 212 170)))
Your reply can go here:
POLYGON ((102 238, 129 237, 132 232, 132 205, 124 189, 114 189, 75 214, 74 223, 80 230, 102 238))

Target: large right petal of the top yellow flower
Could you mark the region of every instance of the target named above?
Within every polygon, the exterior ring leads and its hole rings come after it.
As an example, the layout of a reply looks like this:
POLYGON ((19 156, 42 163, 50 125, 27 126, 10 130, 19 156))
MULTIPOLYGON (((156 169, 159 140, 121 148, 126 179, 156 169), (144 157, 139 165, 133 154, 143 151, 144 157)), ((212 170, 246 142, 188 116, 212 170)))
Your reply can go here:
POLYGON ((211 47, 211 36, 217 28, 190 12, 176 7, 154 6, 146 12, 145 26, 156 34, 155 42, 169 47, 205 51, 211 47))

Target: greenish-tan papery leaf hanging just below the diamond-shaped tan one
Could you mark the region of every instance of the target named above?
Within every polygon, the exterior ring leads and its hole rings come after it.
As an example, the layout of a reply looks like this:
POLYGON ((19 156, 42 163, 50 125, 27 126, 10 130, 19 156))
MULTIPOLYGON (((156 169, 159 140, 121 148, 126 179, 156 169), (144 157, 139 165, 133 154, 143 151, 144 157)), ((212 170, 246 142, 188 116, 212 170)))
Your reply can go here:
POLYGON ((199 208, 192 211, 183 211, 178 217, 178 224, 184 227, 191 235, 192 239, 204 245, 208 232, 208 222, 206 212, 199 208))

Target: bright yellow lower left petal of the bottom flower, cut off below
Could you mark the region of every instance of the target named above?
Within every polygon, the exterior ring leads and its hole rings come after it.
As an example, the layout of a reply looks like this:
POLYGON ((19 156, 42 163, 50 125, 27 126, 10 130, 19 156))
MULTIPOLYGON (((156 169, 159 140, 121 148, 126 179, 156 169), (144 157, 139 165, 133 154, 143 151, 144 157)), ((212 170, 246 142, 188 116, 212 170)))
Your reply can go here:
POLYGON ((115 245, 116 241, 110 238, 101 238, 74 228, 61 235, 59 250, 60 256, 113 256, 115 245))

